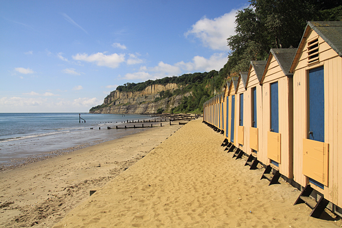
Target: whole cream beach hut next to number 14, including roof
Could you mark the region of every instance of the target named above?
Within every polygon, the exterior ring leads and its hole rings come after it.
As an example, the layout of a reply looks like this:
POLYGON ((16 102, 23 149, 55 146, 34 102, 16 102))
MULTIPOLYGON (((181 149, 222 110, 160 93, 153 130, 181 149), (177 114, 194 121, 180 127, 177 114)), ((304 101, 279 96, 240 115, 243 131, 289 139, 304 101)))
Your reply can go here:
POLYGON ((293 177, 293 75, 296 49, 271 49, 261 78, 263 148, 270 165, 293 177))

